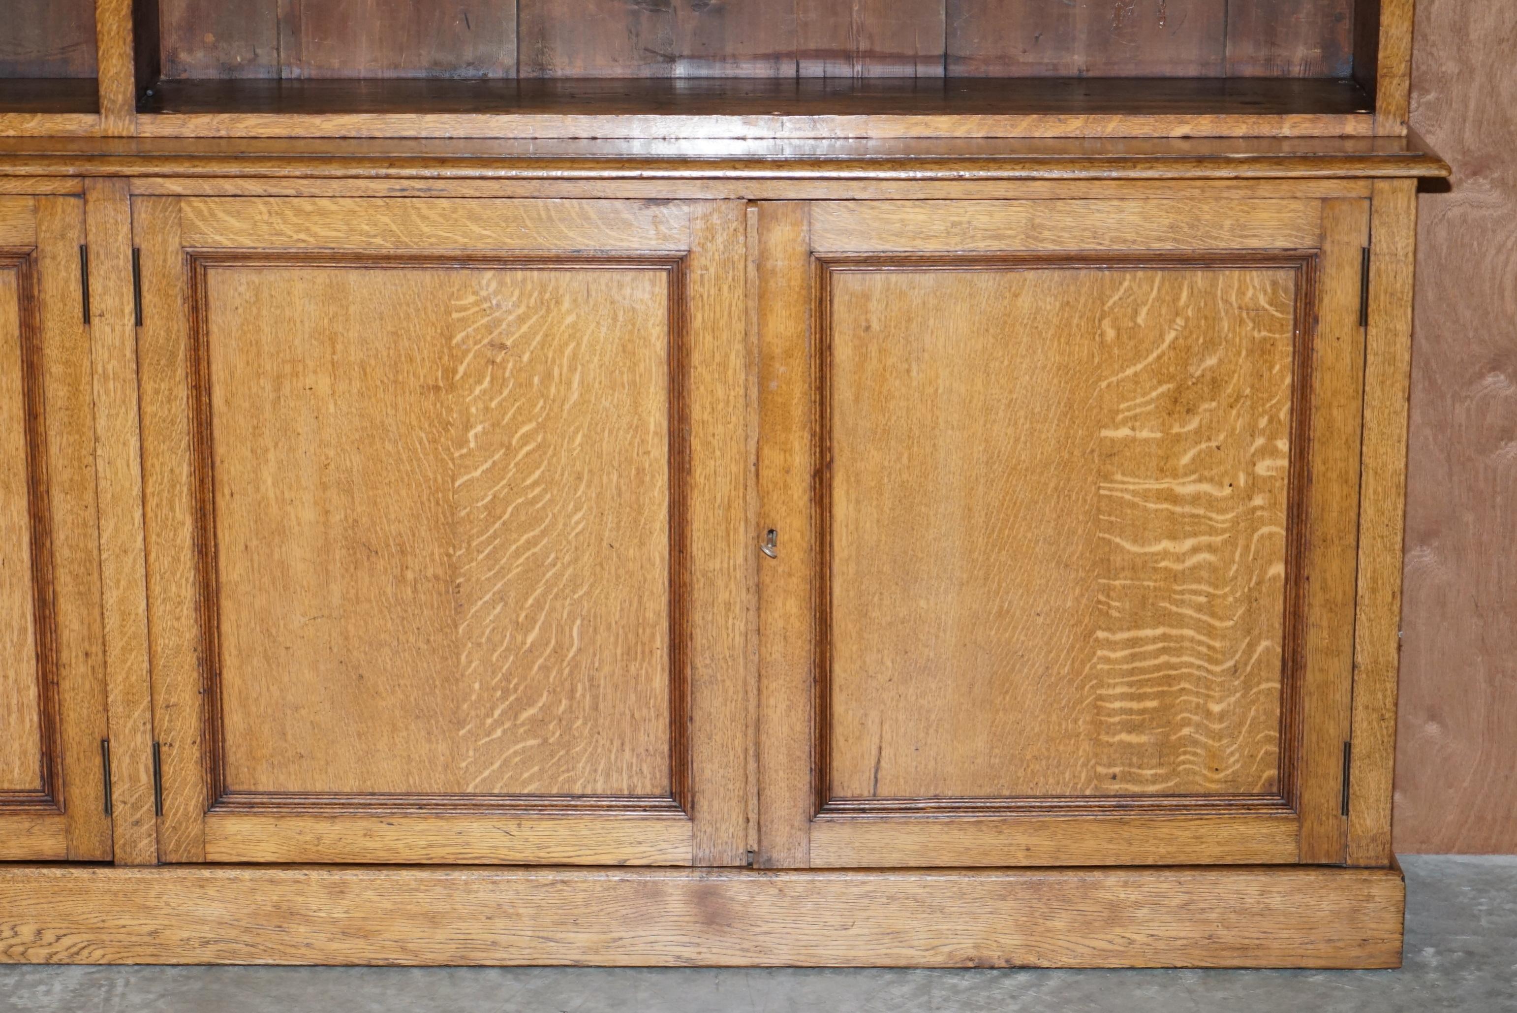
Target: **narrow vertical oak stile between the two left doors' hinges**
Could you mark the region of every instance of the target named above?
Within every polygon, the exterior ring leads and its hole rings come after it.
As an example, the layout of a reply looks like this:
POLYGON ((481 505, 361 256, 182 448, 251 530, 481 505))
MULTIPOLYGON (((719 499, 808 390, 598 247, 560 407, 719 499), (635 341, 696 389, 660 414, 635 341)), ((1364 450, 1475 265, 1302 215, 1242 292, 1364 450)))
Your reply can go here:
POLYGON ((100 585, 111 728, 115 863, 158 861, 153 816, 141 429, 132 306, 132 208, 124 179, 85 185, 94 372, 100 585))

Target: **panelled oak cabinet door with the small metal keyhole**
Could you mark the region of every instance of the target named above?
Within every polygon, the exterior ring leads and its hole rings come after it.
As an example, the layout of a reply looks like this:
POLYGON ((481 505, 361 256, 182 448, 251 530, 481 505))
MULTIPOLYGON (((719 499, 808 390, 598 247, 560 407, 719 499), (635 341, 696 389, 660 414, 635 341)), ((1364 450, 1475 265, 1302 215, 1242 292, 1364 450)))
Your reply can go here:
POLYGON ((758 864, 1344 860, 1367 211, 762 208, 758 864))

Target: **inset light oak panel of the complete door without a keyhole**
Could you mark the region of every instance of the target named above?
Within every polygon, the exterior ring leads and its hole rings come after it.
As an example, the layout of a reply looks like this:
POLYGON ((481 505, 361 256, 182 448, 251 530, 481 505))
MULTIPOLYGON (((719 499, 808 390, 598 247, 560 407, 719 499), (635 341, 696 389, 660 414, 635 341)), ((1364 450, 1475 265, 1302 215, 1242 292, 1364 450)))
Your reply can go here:
POLYGON ((228 792, 669 795, 674 284, 205 268, 228 792))

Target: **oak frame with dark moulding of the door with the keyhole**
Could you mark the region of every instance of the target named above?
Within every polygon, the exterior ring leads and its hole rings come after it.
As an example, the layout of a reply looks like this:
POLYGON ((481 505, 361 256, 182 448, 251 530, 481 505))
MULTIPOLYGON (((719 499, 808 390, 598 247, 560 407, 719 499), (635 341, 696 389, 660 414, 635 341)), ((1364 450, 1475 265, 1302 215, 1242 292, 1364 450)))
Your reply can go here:
POLYGON ((1368 202, 796 202, 765 203, 758 214, 760 528, 777 532, 780 552, 763 561, 758 584, 757 864, 1343 863, 1368 202), (1200 805, 1123 796, 1009 804, 830 798, 830 276, 1110 261, 1297 270, 1279 798, 1200 805))

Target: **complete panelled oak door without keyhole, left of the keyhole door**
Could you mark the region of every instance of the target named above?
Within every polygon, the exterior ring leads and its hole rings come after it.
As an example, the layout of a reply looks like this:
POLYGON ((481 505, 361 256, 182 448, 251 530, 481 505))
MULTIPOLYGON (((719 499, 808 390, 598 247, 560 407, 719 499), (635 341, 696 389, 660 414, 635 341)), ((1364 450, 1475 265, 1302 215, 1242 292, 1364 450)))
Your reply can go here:
POLYGON ((743 863, 743 206, 132 220, 161 860, 743 863))

